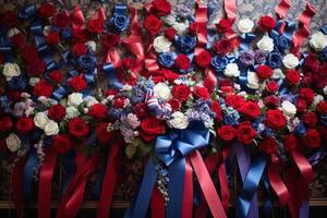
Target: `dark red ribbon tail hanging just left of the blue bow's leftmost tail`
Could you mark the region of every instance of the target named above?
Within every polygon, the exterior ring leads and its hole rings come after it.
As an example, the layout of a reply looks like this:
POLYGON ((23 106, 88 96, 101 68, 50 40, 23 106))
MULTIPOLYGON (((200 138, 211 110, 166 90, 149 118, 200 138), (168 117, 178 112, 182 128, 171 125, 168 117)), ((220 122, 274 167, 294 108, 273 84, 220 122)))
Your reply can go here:
POLYGON ((110 204, 113 196, 113 191, 117 182, 117 158, 119 152, 119 145, 112 145, 109 157, 107 160, 107 170, 102 182, 102 189, 99 199, 99 206, 97 209, 97 217, 109 217, 110 204))

